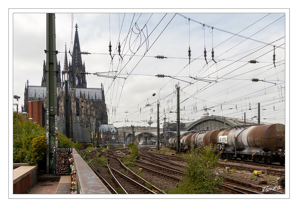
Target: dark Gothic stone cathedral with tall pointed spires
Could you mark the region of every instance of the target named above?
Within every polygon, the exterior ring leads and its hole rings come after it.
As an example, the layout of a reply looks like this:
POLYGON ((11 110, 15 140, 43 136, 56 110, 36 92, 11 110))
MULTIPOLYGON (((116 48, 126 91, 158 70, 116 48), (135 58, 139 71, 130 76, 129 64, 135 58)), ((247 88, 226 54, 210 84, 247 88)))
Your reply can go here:
MULTIPOLYGON (((72 61, 68 64, 67 51, 65 46, 64 68, 61 71, 60 61, 56 59, 56 77, 57 77, 57 111, 60 120, 65 123, 65 109, 69 108, 69 123, 78 123, 82 128, 90 127, 92 131, 98 132, 100 124, 108 124, 107 108, 104 98, 104 88, 101 84, 98 88, 87 88, 85 63, 82 61, 80 43, 78 37, 78 26, 75 26, 75 39, 72 53, 72 61), (66 81, 68 82, 68 106, 66 100, 66 81)), ((28 102, 42 101, 46 108, 46 61, 43 64, 43 76, 41 85, 25 85, 24 106, 22 111, 28 113, 28 102)), ((75 126, 77 124, 73 124, 75 126)), ((62 124, 65 126, 65 124, 62 124)), ((61 129, 58 129, 61 132, 61 129)), ((73 135, 75 130, 72 127, 73 135)), ((65 132, 65 129, 63 130, 65 132)), ((74 137, 72 136, 72 137, 74 137)), ((74 139, 75 141, 75 139, 74 139)))

